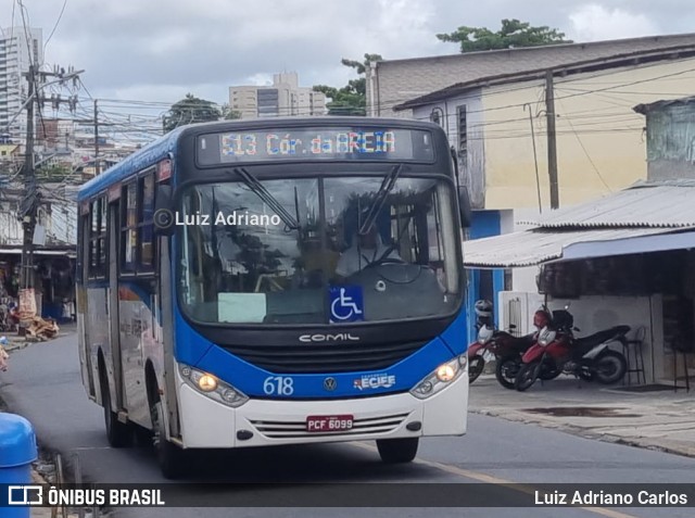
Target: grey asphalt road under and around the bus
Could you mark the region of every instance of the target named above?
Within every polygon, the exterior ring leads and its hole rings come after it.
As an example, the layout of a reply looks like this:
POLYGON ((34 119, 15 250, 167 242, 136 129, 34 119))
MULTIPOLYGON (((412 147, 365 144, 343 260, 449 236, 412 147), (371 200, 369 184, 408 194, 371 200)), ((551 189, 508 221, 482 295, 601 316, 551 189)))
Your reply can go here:
MULTIPOLYGON (((0 374, 0 396, 11 412, 29 419, 39 442, 64 456, 79 455, 90 482, 164 482, 150 448, 113 450, 106 444, 102 412, 87 399, 78 370, 76 337, 33 344, 16 351, 10 371, 0 374)), ((472 389, 475 391, 475 386, 472 389)), ((504 396, 504 391, 501 391, 504 396)), ((504 419, 470 415, 463 438, 420 441, 418 458, 405 466, 386 466, 372 443, 306 445, 206 452, 191 458, 187 498, 224 505, 228 494, 210 482, 280 482, 285 485, 257 493, 273 507, 118 508, 117 517, 342 517, 368 513, 375 517, 421 517, 450 514, 451 509, 399 507, 334 508, 292 507, 298 501, 326 498, 330 488, 293 487, 300 482, 365 482, 375 492, 381 483, 478 483, 494 502, 515 502, 518 491, 504 484, 525 483, 531 490, 542 483, 695 483, 695 459, 607 444, 563 432, 504 419), (498 490, 498 491, 497 491, 498 490)), ((402 487, 403 488, 403 487, 402 487)), ((251 491, 251 490, 250 490, 251 491)), ((403 495, 417 503, 422 487, 405 487, 403 495)), ((253 495, 252 495, 253 496, 253 495)), ((692 517, 693 508, 466 508, 466 517, 692 517)))

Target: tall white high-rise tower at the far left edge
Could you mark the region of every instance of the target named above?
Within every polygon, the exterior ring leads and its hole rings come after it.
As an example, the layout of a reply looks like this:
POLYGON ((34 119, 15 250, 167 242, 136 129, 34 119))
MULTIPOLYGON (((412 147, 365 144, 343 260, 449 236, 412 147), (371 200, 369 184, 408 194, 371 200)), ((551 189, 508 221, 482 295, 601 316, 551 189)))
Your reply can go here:
POLYGON ((0 138, 3 141, 24 143, 26 112, 22 105, 28 91, 24 74, 31 63, 43 63, 42 30, 25 30, 24 27, 0 29, 0 138))

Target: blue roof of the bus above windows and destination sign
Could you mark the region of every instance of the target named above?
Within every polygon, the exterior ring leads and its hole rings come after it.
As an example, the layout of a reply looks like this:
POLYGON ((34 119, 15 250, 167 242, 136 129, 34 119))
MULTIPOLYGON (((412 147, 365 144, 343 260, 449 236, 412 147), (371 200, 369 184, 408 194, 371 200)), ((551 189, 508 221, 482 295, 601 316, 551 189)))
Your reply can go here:
POLYGON ((89 199, 105 191, 109 186, 129 178, 137 172, 155 165, 166 159, 169 153, 176 160, 176 144, 185 132, 203 134, 211 130, 285 128, 285 127, 311 127, 326 126, 357 126, 357 125, 388 125, 394 128, 422 128, 432 129, 441 127, 434 123, 414 121, 409 118, 382 118, 359 116, 311 116, 311 117, 273 117, 236 121, 217 121, 211 123, 189 124, 179 126, 159 139, 150 142, 142 149, 130 154, 123 161, 106 169, 103 174, 84 184, 78 193, 77 201, 89 199))

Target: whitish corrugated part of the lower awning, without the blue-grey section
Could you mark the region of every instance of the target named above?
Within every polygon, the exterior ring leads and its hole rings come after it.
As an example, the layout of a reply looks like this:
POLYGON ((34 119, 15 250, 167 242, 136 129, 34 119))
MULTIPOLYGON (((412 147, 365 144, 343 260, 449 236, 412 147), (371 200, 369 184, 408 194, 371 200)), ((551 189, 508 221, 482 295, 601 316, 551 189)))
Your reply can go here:
MULTIPOLYGON (((690 228, 695 228, 695 225, 690 228)), ((615 241, 674 233, 673 228, 610 228, 601 230, 549 230, 534 228, 492 238, 464 242, 464 265, 471 268, 511 268, 534 266, 563 257, 571 244, 615 241)))

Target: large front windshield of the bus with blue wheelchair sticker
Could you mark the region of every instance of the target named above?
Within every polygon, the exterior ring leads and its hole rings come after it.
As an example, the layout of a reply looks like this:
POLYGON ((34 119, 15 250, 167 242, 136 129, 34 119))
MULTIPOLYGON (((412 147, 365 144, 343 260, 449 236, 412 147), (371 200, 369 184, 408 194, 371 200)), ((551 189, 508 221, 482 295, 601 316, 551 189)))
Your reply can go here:
POLYGON ((351 324, 458 308, 448 182, 396 169, 229 178, 186 188, 176 216, 178 295, 193 321, 351 324))

